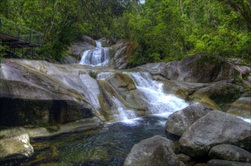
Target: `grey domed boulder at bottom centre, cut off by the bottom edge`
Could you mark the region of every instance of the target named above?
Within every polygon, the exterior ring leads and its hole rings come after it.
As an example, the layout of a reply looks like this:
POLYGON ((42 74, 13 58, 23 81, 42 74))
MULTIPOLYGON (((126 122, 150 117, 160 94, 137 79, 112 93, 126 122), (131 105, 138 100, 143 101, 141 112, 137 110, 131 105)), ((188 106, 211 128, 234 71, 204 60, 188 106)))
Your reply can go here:
POLYGON ((183 165, 175 155, 172 141, 154 136, 135 144, 124 166, 179 166, 183 165))

